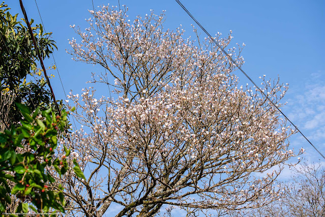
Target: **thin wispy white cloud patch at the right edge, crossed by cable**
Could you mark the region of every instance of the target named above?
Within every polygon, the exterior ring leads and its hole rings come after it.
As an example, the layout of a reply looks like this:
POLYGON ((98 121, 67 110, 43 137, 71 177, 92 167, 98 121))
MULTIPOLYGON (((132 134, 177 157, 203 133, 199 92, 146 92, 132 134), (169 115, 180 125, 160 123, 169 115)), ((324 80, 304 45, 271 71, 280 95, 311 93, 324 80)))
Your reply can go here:
MULTIPOLYGON (((284 112, 287 111, 290 120, 325 154, 325 73, 313 73, 305 84, 289 90, 284 112)), ((302 157, 308 160, 322 158, 299 133, 290 138, 290 144, 296 150, 305 148, 306 154, 302 157)))

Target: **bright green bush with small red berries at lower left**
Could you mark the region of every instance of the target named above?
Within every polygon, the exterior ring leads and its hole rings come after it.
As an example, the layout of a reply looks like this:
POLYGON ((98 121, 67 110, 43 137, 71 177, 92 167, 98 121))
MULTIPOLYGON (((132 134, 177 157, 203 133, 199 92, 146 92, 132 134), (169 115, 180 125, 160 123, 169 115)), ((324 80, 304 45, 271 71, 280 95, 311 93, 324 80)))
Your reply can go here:
MULTIPOLYGON (((46 185, 54 183, 55 179, 45 167, 55 169, 60 175, 68 169, 66 157, 70 154, 69 149, 65 148, 64 156, 53 157, 57 131, 65 129, 68 112, 63 110, 58 116, 51 108, 44 111, 37 108, 31 114, 27 106, 17 103, 17 107, 24 117, 21 126, 0 133, 0 213, 6 211, 6 206, 11 203, 11 194, 20 199, 16 212, 26 212, 28 207, 36 212, 48 212, 50 207, 64 212, 63 188, 59 186, 59 191, 46 185), (22 144, 28 151, 17 153, 16 149, 23 148, 22 144), (8 181, 15 184, 12 189, 8 181)), ((78 165, 74 171, 84 178, 78 165)))

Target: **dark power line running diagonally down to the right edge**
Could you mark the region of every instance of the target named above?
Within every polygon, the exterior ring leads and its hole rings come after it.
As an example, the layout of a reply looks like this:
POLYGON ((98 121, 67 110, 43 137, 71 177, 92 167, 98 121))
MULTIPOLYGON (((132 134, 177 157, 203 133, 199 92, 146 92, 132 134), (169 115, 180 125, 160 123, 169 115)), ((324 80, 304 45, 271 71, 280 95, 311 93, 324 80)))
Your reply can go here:
POLYGON ((184 11, 194 20, 194 22, 196 22, 196 24, 198 24, 198 26, 200 26, 201 30, 203 30, 203 32, 208 35, 210 37, 210 39, 222 50, 222 52, 229 58, 229 60, 237 67, 239 68, 239 70, 241 70, 241 72, 243 72, 243 74, 251 81, 251 83, 253 83, 253 85, 261 92, 261 94, 263 96, 265 96, 265 98, 267 98, 271 104, 277 108, 277 110, 285 117, 286 120, 288 120, 290 122, 290 124, 292 124, 292 126, 294 126, 296 128, 296 130, 298 130, 298 132, 300 132, 300 134, 309 142, 309 144, 320 154, 320 156, 322 156, 325 159, 325 156, 320 153, 320 151, 318 151, 318 149, 305 137, 305 135, 298 129, 298 127, 296 125, 294 125, 292 123, 292 121, 290 121, 290 119, 280 110, 280 108, 278 108, 278 106, 276 106, 274 104, 274 102, 255 84, 255 82, 248 76, 248 74, 246 74, 246 72, 228 55, 228 53, 216 42, 216 40, 209 34, 208 31, 206 31, 203 26, 194 18, 194 16, 185 8, 185 6, 179 1, 179 0, 175 0, 183 9, 184 11))

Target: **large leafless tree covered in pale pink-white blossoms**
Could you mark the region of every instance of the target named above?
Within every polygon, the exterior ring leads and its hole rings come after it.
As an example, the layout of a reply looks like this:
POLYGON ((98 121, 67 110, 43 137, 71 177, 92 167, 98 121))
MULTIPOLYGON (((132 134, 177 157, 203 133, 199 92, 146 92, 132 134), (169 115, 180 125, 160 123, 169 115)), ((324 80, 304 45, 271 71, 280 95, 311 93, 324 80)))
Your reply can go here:
MULTIPOLYGON (((86 171, 85 180, 69 171, 61 180, 70 213, 102 216, 119 204, 116 216, 153 216, 162 207, 165 214, 173 207, 195 214, 259 207, 281 196, 274 181, 296 156, 287 142, 293 130, 256 89, 239 85, 212 41, 164 30, 164 13, 133 22, 127 8, 90 13, 85 32, 72 26, 81 41, 71 40, 69 52, 103 66, 106 73, 93 74, 91 83, 113 88, 117 99, 97 99, 94 88, 69 95, 82 128, 61 143, 86 171)), ((215 40, 226 48, 231 38, 218 33, 215 40)), ((242 47, 237 56, 235 49, 228 53, 242 65, 242 47)), ((263 91, 282 106, 287 86, 262 80, 263 91)))

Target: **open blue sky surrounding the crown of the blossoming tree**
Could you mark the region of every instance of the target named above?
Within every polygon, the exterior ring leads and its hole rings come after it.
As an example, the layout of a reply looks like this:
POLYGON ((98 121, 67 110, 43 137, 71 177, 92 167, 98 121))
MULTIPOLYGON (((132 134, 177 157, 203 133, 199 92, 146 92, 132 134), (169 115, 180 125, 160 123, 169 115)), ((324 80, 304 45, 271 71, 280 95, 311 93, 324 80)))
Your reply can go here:
MULTIPOLYGON (((282 111, 325 154, 325 1, 181 2, 211 35, 221 32, 226 36, 232 30, 232 43, 246 44, 242 52, 246 61, 243 69, 257 84, 260 84, 258 77, 263 74, 269 78, 279 75, 281 82, 289 84, 284 98, 288 104, 282 111)), ((12 8, 11 13, 21 14, 18 0, 6 3, 12 8)), ((23 3, 28 18, 40 23, 35 1, 24 0, 23 3)), ((94 0, 95 8, 108 3, 119 4, 117 0, 94 0)), ((87 10, 93 10, 92 1, 37 0, 37 4, 45 30, 53 32, 58 46, 54 57, 64 88, 67 93, 73 90, 80 94, 82 88, 89 86, 85 82, 91 79, 91 72, 101 69, 72 61, 66 49, 69 49, 68 39, 77 38, 70 25, 85 28, 84 19, 91 17, 87 10)), ((165 28, 176 29, 182 24, 187 34, 193 35, 190 24, 194 21, 175 1, 120 0, 120 4, 129 7, 131 20, 138 14, 149 14, 150 9, 157 14, 166 10, 165 28)), ((201 30, 199 32, 205 37, 201 30)), ((45 60, 45 64, 53 65, 53 59, 45 60)), ((51 84, 56 98, 65 99, 57 72, 48 73, 55 75, 51 84)), ((249 83, 240 71, 237 74, 242 82, 249 83)), ((306 154, 302 157, 309 162, 325 162, 298 133, 291 137, 290 146, 296 150, 303 147, 306 154)))

